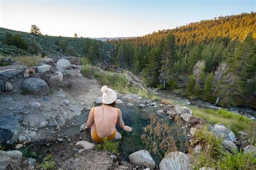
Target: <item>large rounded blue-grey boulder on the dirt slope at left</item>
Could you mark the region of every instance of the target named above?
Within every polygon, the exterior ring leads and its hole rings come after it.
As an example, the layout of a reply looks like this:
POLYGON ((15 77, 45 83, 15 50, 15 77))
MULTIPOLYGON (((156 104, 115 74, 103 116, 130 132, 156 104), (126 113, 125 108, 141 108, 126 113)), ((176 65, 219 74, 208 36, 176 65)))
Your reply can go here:
POLYGON ((21 83, 21 90, 25 94, 46 95, 49 93, 49 86, 44 80, 31 77, 21 83))

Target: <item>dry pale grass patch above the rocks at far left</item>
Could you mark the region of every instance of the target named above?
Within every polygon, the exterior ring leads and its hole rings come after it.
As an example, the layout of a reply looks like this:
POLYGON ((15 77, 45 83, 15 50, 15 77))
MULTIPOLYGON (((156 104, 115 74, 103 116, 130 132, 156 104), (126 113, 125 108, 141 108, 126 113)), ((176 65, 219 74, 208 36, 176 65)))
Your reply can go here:
POLYGON ((16 61, 21 61, 22 65, 26 67, 34 67, 37 66, 38 62, 41 61, 42 55, 26 55, 26 56, 18 56, 16 58, 11 58, 16 61))

